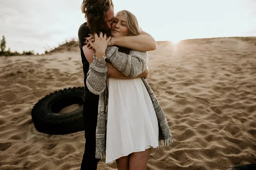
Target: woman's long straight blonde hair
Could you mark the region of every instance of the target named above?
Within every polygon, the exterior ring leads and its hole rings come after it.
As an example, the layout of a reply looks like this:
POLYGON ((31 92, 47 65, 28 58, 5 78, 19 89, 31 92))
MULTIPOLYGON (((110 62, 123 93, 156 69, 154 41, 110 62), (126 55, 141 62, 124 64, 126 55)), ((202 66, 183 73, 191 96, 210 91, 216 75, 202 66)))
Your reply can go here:
POLYGON ((124 14, 125 19, 127 21, 128 29, 132 36, 140 34, 141 29, 140 29, 137 17, 134 14, 132 14, 130 11, 126 11, 126 10, 122 10, 117 13, 124 14))

